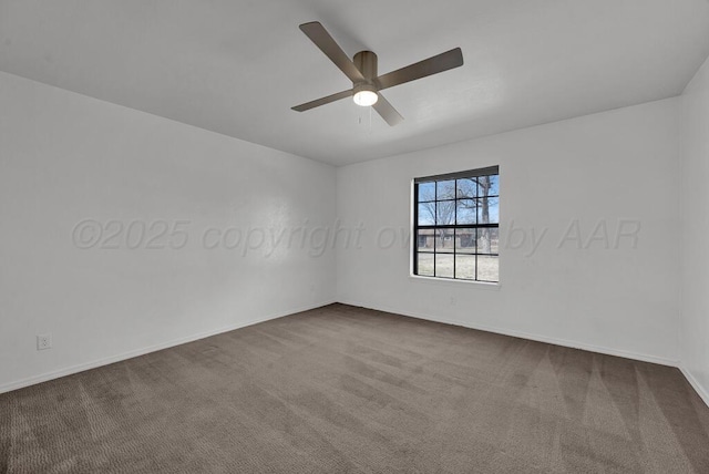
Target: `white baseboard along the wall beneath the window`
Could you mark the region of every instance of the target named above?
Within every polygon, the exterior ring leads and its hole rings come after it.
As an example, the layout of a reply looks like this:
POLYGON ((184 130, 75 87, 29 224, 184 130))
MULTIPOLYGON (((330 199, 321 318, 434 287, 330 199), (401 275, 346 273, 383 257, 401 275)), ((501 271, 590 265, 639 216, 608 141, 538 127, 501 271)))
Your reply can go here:
POLYGON ((401 311, 395 308, 388 308, 388 307, 381 307, 381 306, 374 308, 368 305, 362 305, 357 301, 340 300, 339 302, 341 302, 342 305, 358 306, 362 308, 374 309, 378 311, 386 311, 386 312, 392 312, 394 315, 402 315, 410 318, 424 319, 427 321, 434 321, 434 322, 442 322, 444 324, 451 324, 451 326, 460 326, 463 328, 476 329, 479 331, 494 332, 496 334, 512 336, 514 338, 528 339, 537 342, 546 342, 548 344, 563 346, 572 349, 582 349, 589 352, 597 352, 597 353, 607 354, 607 356, 616 356, 625 359, 634 359, 643 362, 657 363, 660 365, 679 367, 678 360, 666 359, 666 358, 660 358, 656 356, 648 356, 648 354, 643 354, 638 352, 624 351, 624 350, 606 348, 602 346, 594 346, 585 342, 569 341, 566 339, 549 338, 546 336, 533 334, 533 333, 523 332, 523 331, 515 331, 515 330, 505 329, 505 328, 496 328, 496 327, 491 327, 485 324, 474 324, 474 323, 465 323, 461 321, 453 321, 453 320, 440 318, 433 315, 413 313, 411 311, 401 311))

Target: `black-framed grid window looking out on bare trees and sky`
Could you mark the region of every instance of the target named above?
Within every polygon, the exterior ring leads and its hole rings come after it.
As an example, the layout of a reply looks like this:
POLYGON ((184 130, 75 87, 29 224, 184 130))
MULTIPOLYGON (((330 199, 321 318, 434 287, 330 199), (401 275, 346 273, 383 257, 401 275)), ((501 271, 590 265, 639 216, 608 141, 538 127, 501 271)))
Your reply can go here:
POLYGON ((413 181, 413 275, 500 281, 497 166, 413 181))

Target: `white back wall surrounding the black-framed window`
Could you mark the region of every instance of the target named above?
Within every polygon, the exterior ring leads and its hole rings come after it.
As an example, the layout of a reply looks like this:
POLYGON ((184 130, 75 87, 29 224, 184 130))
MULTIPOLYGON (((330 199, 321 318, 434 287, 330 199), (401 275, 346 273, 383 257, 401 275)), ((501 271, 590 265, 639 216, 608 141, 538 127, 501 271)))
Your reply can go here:
POLYGON ((675 364, 680 218, 678 99, 338 168, 338 299, 531 339, 675 364), (411 179, 501 169, 501 286, 409 276, 411 179), (618 223, 631 238, 615 245, 618 223), (574 221, 583 237, 559 246, 574 221), (605 223, 608 246, 588 239, 605 223), (506 241, 512 227, 526 233, 506 241), (630 226, 630 227, 628 227, 630 226), (531 236, 544 238, 532 251, 531 236), (381 241, 378 244, 378 236, 381 241), (587 248, 586 248, 587 247, 587 248))

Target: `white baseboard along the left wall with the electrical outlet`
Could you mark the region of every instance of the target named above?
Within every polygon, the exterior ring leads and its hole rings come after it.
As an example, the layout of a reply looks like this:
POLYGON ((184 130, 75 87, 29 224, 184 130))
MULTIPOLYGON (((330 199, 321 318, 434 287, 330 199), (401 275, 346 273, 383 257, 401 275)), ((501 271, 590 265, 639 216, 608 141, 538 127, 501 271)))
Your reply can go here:
POLYGON ((27 379, 22 379, 22 380, 18 380, 18 381, 14 381, 14 382, 10 382, 10 383, 6 383, 3 385, 0 385, 0 393, 11 392, 13 390, 22 389, 24 387, 30 387, 30 385, 34 385, 34 384, 38 384, 38 383, 47 382, 47 381, 50 381, 50 380, 59 379, 61 377, 71 375, 71 374, 83 372, 83 371, 86 371, 86 370, 90 370, 90 369, 95 369, 95 368, 99 368, 99 367, 102 367, 102 365, 107 365, 110 363, 121 362, 121 361, 126 360, 126 359, 133 359, 134 357, 144 356, 146 353, 161 351, 163 349, 173 348, 175 346, 179 346, 179 344, 184 344, 184 343, 187 343, 187 342, 197 341, 199 339, 209 338, 212 336, 220 334, 223 332, 234 331, 235 329, 240 329, 240 328, 246 328, 248 326, 258 324, 259 322, 270 321, 271 319, 282 318, 284 316, 295 315, 297 312, 308 311, 310 309, 316 309, 316 308, 321 308, 323 306, 332 305, 335 302, 337 302, 337 301, 336 300, 328 300, 328 301, 319 302, 319 303, 316 303, 316 305, 312 305, 312 306, 307 306, 307 307, 302 307, 302 308, 295 308, 292 310, 264 316, 261 318, 253 319, 253 320, 249 320, 249 321, 246 321, 246 322, 240 322, 240 323, 233 324, 233 326, 227 326, 227 327, 215 329, 215 330, 212 330, 212 331, 206 331, 206 332, 201 332, 201 333, 197 333, 197 334, 191 334, 191 336, 187 336, 187 337, 184 337, 184 338, 173 339, 172 341, 162 342, 160 344, 151 346, 151 347, 147 347, 147 348, 136 349, 136 350, 133 350, 133 351, 123 352, 123 353, 120 353, 120 354, 110 356, 110 357, 106 357, 106 358, 93 360, 91 362, 80 363, 78 365, 66 367, 66 368, 54 370, 54 371, 51 371, 51 372, 45 372, 45 373, 42 373, 42 374, 39 374, 39 375, 29 377, 27 379))

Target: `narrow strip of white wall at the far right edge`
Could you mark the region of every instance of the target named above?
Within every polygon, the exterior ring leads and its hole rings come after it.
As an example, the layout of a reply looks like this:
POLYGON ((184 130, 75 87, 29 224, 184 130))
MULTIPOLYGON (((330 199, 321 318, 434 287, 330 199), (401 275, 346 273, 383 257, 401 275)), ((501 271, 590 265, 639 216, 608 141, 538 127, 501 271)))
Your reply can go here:
POLYGON ((709 404, 709 61, 681 102, 681 361, 685 374, 709 404))

